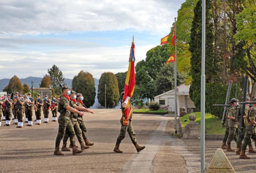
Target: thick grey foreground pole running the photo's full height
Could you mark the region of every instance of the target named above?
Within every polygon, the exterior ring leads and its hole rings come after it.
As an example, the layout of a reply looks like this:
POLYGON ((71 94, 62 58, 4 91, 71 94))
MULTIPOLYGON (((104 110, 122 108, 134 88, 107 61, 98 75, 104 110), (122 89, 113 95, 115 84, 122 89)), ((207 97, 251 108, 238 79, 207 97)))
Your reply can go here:
POLYGON ((202 0, 201 172, 205 169, 205 0, 202 0))

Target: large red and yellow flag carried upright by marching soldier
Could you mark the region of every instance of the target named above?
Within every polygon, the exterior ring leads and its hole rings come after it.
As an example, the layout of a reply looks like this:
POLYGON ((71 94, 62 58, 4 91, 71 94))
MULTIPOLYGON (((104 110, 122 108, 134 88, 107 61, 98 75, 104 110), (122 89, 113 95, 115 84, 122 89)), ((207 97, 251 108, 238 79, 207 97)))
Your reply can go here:
MULTIPOLYGON (((131 50, 130 50, 130 57, 129 57, 129 67, 128 67, 125 85, 124 85, 124 100, 123 101, 125 101, 127 96, 129 96, 130 98, 132 97, 134 88, 135 88, 134 49, 135 49, 135 45, 134 45, 134 42, 132 42, 131 50)), ((128 122, 129 122, 129 105, 130 105, 130 99, 129 99, 127 106, 124 110, 124 114, 125 114, 125 117, 123 117, 124 125, 128 125, 128 122)), ((132 107, 131 107, 131 109, 132 109, 132 107)))

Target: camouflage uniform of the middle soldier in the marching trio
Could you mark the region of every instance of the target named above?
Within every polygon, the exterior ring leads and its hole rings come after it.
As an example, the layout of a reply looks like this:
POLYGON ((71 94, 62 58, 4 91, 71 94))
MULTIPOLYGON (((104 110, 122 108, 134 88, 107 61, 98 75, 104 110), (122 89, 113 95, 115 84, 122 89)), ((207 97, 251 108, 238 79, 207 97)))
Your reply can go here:
MULTIPOLYGON (((73 102, 73 100, 71 100, 71 103, 73 104, 74 107, 77 106, 77 104, 75 102, 73 102)), ((82 137, 82 131, 81 131, 81 129, 79 127, 79 123, 77 121, 78 114, 77 113, 73 113, 73 112, 71 112, 70 114, 71 114, 70 120, 71 120, 71 122, 73 124, 73 127, 74 127, 74 130, 75 130, 77 139, 78 139, 79 143, 81 143, 84 140, 83 140, 83 137, 82 137)), ((67 133, 67 131, 66 131, 65 135, 63 137, 63 144, 67 144, 68 139, 69 139, 69 133, 67 133)))

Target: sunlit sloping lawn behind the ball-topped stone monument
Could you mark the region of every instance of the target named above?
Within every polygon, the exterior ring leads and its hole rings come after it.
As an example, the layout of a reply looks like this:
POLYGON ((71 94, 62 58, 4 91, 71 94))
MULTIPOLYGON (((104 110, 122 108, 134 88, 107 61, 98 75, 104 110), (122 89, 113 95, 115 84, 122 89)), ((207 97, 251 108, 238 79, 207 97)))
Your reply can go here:
MULTIPOLYGON (((196 115, 196 123, 199 125, 201 124, 201 112, 195 112, 193 113, 196 115)), ((185 125, 190 122, 188 119, 188 116, 190 114, 185 115, 184 117, 181 117, 180 120, 183 125, 183 129, 185 128, 185 125), (187 119, 188 121, 184 122, 184 120, 187 119)), ((206 134, 224 134, 225 129, 221 126, 221 119, 214 117, 211 114, 205 114, 205 133, 206 134)))

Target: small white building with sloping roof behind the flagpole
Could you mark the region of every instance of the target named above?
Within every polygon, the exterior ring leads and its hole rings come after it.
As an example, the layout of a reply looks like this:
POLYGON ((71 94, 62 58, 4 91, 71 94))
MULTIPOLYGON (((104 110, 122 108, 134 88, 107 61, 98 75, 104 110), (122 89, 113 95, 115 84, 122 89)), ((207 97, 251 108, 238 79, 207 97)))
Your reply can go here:
MULTIPOLYGON (((182 107, 185 107, 187 113, 194 112, 195 104, 189 97, 190 85, 180 84, 177 85, 177 114, 179 116, 182 107)), ((155 101, 160 104, 160 107, 164 109, 168 106, 169 112, 175 111, 175 90, 164 92, 160 95, 155 96, 155 101)))

